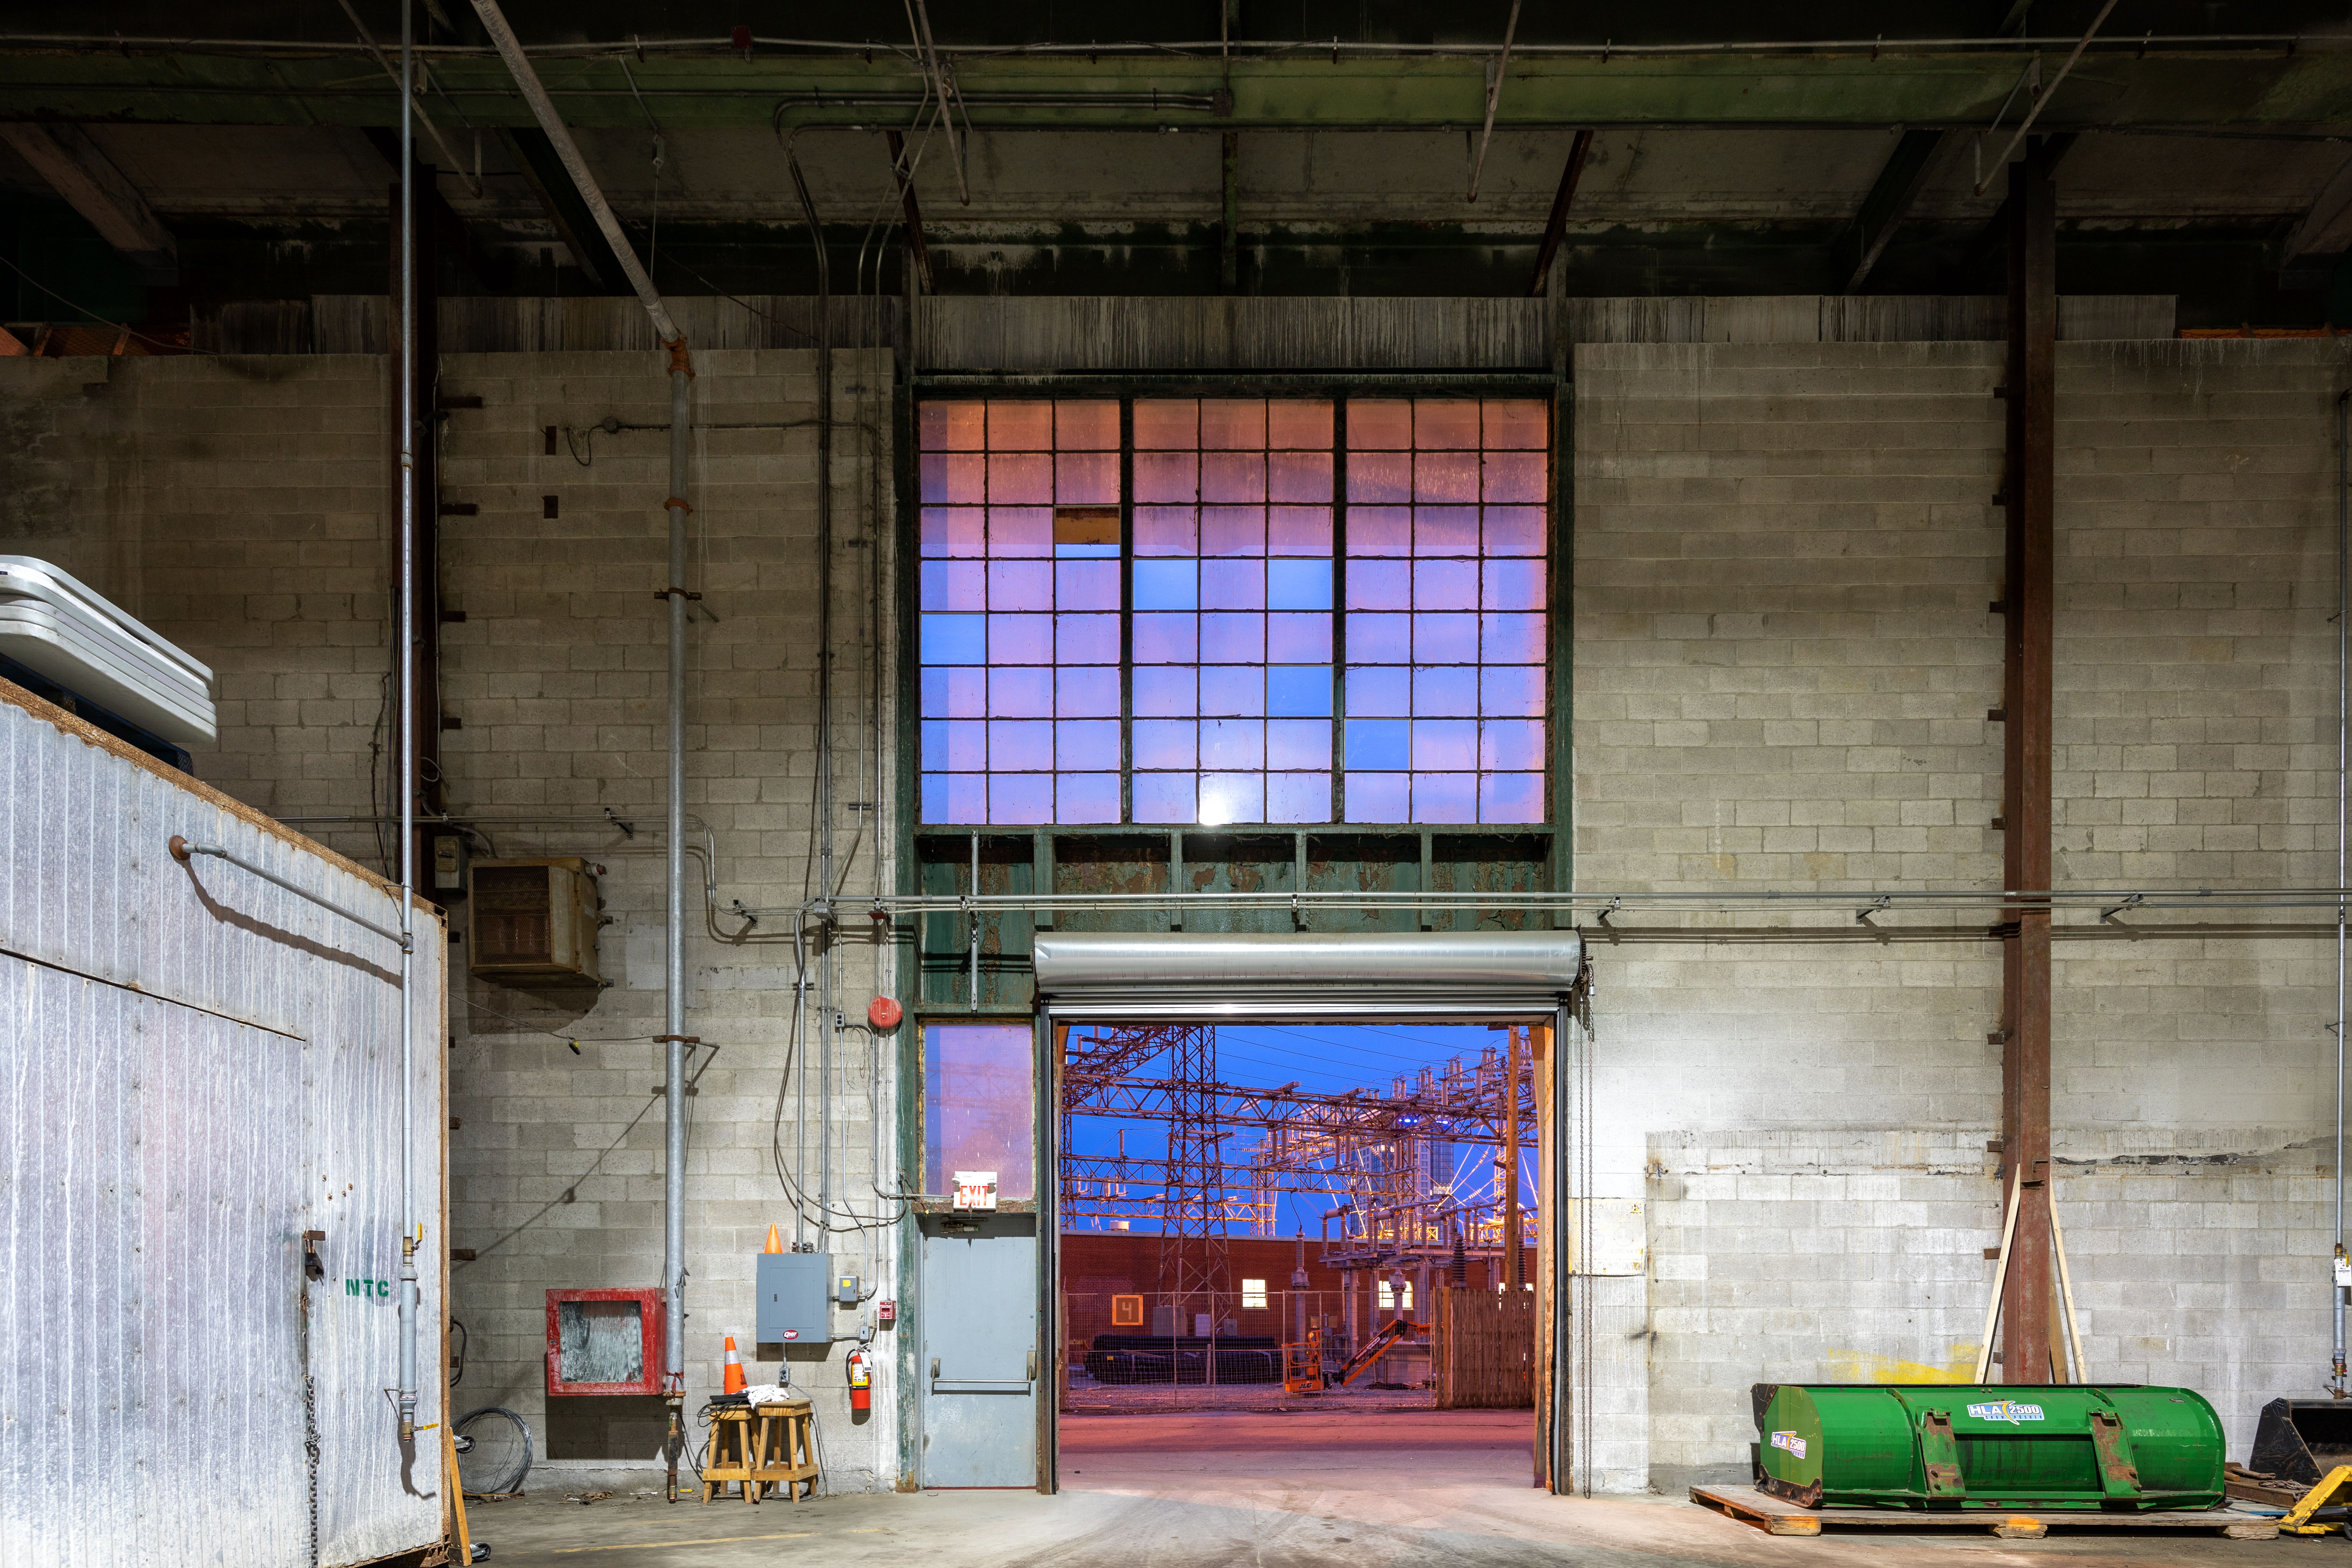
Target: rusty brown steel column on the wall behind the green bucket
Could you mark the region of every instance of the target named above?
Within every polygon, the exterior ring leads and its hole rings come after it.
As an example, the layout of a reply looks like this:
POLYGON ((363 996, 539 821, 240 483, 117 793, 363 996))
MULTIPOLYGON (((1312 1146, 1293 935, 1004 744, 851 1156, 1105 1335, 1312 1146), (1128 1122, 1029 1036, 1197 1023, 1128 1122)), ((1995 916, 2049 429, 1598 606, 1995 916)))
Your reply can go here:
MULTIPOLYGON (((2058 369, 2056 186, 2044 146, 2009 165, 2009 515, 2002 646, 2002 884, 2051 877, 2051 597, 2058 369)), ((2002 1380, 2051 1380, 2051 914, 2011 905, 2002 940, 2002 1152, 2023 1173, 2002 1286, 2002 1380)), ((2004 1178, 2006 1187, 2006 1178, 2004 1178)))

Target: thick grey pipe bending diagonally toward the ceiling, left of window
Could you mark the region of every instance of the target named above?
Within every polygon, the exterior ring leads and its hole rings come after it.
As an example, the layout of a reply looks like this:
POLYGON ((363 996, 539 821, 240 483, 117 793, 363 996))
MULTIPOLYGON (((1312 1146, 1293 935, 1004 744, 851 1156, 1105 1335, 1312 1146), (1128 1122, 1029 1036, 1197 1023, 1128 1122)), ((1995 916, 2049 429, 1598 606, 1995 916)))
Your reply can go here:
MULTIPOLYGON (((668 1500, 677 1502, 677 1460, 684 1448, 684 1396, 687 1396, 687 1046, 699 1044, 687 1034, 687 919, 684 919, 684 882, 687 882, 687 851, 684 851, 684 823, 687 823, 687 454, 691 451, 694 435, 694 364, 687 357, 687 334, 677 329, 670 320, 668 306, 661 303, 661 292, 654 289, 654 280, 644 275, 637 263, 637 252, 630 247, 628 235, 621 233, 621 219, 614 216, 612 202, 604 200, 604 190, 595 183, 588 172, 588 160, 581 158, 579 143, 572 141, 572 129, 555 113, 555 101, 548 99, 548 89, 539 82, 539 73, 532 68, 529 56, 522 49, 522 40, 506 24, 506 14, 499 9, 499 0, 473 0, 475 14, 482 19, 489 40, 496 45, 499 56, 506 61, 508 73, 515 78, 515 87, 522 99, 532 106, 532 118, 539 120, 539 129, 548 134, 555 146, 557 160, 564 165, 564 174, 572 176, 572 186, 579 190, 581 200, 588 205, 595 226, 604 233, 604 242, 612 244, 614 259, 621 263, 621 273, 628 284, 637 292, 637 301, 654 322, 654 336, 670 353, 670 494, 663 501, 663 510, 670 517, 670 581, 661 590, 670 609, 670 724, 668 724, 668 865, 663 884, 666 903, 666 936, 663 936, 663 1126, 661 1126, 661 1286, 663 1286, 663 1352, 661 1352, 661 1392, 670 1408, 670 1434, 663 1443, 668 1455, 668 1500)), ((715 875, 715 872, 713 872, 715 875)))

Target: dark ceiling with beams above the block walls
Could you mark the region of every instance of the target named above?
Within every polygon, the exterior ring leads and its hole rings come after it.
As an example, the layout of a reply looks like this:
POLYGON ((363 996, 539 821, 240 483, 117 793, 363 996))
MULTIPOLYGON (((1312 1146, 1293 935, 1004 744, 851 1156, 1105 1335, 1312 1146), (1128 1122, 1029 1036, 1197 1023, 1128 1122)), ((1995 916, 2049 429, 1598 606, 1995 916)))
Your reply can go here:
MULTIPOLYGON (((816 287, 786 143, 828 249, 891 292, 1992 292, 2030 139, 2060 289, 2352 322, 2343 0, 506 9, 682 294, 816 287)), ((400 21, 9 7, 0 306, 169 324, 381 292, 400 21)), ((414 28, 437 284, 619 289, 473 7, 419 0, 414 28)))

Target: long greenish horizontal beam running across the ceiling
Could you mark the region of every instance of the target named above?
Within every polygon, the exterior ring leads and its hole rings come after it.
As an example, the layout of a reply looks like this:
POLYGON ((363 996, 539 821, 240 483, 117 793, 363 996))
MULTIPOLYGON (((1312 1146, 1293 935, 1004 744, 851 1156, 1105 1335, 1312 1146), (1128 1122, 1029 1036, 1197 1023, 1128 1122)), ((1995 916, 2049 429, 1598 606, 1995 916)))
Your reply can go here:
MULTIPOLYGON (((2352 54, 2091 49, 2046 129, 2352 129, 2352 54)), ((435 54, 435 94, 475 127, 522 129, 529 106, 496 59, 435 54)), ((858 54, 543 56, 567 125, 699 127, 898 122, 924 99, 906 59, 858 54)), ((2018 54, 1515 54, 1496 125, 1983 127, 2016 87, 2018 54)), ((990 56, 955 63, 978 129, 1475 129, 1486 113, 1477 56, 1282 54, 990 56)), ((19 118, 188 125, 390 125, 397 92, 341 56, 85 52, 0 54, 0 101, 19 118)))

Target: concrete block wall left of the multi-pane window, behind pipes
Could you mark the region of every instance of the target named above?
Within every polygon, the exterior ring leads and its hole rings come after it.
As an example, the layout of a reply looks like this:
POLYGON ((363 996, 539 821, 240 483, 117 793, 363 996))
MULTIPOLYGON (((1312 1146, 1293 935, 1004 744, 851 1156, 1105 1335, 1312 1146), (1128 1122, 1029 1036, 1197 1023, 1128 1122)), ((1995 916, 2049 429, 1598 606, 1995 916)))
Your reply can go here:
MULTIPOLYGON (((440 383, 445 400, 482 397, 442 425, 442 501, 480 508, 442 524, 445 604, 466 616, 442 637, 442 710, 461 724, 442 736, 449 806, 477 818, 499 853, 600 865, 609 919, 607 990, 452 985, 459 1128, 449 1234, 435 1244, 477 1253, 452 1286, 470 1335, 459 1401, 515 1408, 541 1453, 553 1436, 574 1455, 541 1488, 654 1483, 590 1465, 649 1460, 659 1410, 541 1389, 548 1288, 661 1281, 663 1103, 652 1088, 663 1048, 649 1037, 663 1032, 666 611, 654 595, 668 581, 668 437, 586 430, 604 418, 666 425, 661 369, 656 355, 628 353, 452 355, 440 383), (569 442, 557 435, 555 456, 548 425, 576 428, 569 442), (557 517, 543 517, 543 496, 557 498, 557 517)), ((720 1382, 724 1333, 755 1378, 781 1366, 760 1361, 750 1335, 753 1253, 769 1222, 795 1237, 779 1150, 793 1164, 807 1145, 814 1199, 814 1128, 830 1112, 835 1204, 873 1215, 875 1133, 884 1147, 896 1138, 894 1044, 877 1058, 863 1034, 837 1039, 830 1098, 814 1070, 807 1079, 807 1138, 802 1081, 788 1077, 800 978, 790 910, 814 891, 816 853, 814 371, 809 353, 696 355, 689 886, 699 893, 708 875, 720 907, 739 900, 760 922, 743 940, 713 933, 743 929, 731 912, 696 917, 687 933, 687 1032, 706 1041, 689 1100, 689 1408, 720 1382)), ((365 823, 388 802, 383 778, 372 783, 374 745, 388 738, 388 407, 386 362, 365 355, 0 362, 0 428, 16 456, 0 550, 64 564, 212 663, 221 741, 198 748, 198 776, 310 818, 308 832, 362 863, 390 844, 365 823)), ((835 875, 849 896, 891 879, 891 790, 875 769, 889 780, 896 764, 887 733, 873 748, 875 677, 882 691, 894 682, 875 649, 896 646, 889 595, 873 595, 873 574, 894 571, 889 407, 889 357, 837 355, 835 875)), ((894 985, 866 924, 835 954, 851 1018, 894 985)), ((463 903, 452 931, 463 978, 463 903)), ((802 1063, 818 1056, 818 994, 802 1063)), ((814 1201, 802 1232, 816 1239, 814 1201)), ((830 1251, 870 1293, 840 1312, 847 1333, 873 1298, 898 1293, 896 1248, 887 1232, 849 1229, 830 1251)), ((816 1389, 833 1486, 894 1486, 894 1359, 880 1359, 873 1415, 854 1422, 847 1349, 790 1354, 793 1380, 816 1389)))

